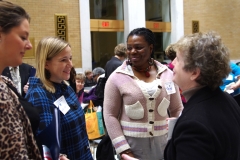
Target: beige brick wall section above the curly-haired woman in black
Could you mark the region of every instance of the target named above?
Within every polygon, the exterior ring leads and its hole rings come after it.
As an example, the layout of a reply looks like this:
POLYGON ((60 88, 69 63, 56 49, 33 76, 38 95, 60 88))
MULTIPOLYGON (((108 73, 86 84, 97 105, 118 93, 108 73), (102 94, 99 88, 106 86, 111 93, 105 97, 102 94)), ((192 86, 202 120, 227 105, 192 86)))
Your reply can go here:
POLYGON ((199 30, 217 31, 230 50, 231 59, 240 59, 240 1, 184 0, 184 33, 192 33, 192 20, 199 30))

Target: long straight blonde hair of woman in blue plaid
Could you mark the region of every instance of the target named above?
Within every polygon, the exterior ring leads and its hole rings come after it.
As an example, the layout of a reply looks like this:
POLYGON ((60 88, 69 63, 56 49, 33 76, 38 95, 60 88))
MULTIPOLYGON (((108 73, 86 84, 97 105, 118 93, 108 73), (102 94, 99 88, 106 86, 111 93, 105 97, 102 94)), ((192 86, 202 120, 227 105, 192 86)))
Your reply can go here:
POLYGON ((45 69, 46 62, 57 56, 67 46, 70 46, 69 43, 58 37, 46 37, 38 43, 36 51, 36 77, 41 80, 43 87, 51 93, 55 93, 55 88, 50 81, 50 72, 45 69))

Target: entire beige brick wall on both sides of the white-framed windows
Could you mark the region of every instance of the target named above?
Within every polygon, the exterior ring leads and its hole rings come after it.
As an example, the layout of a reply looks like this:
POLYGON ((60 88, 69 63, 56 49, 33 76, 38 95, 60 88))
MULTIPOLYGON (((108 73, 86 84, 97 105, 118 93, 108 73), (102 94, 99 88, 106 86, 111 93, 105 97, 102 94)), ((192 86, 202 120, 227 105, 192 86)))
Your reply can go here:
MULTIPOLYGON (((9 0, 21 5, 31 16, 30 37, 35 49, 45 36, 55 36, 54 14, 68 15, 68 39, 72 46, 73 64, 82 67, 79 29, 79 0, 9 0)), ((240 1, 184 0, 184 33, 192 33, 192 20, 198 20, 200 31, 217 31, 230 50, 231 59, 240 59, 240 1)), ((34 59, 24 62, 35 66, 34 59)))

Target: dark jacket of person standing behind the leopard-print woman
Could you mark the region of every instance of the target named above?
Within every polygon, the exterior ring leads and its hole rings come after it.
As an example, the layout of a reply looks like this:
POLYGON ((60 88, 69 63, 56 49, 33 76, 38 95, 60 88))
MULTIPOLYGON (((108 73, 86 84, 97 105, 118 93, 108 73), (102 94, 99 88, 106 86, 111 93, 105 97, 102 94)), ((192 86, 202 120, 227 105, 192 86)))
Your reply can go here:
MULTIPOLYGON (((21 77, 21 90, 22 90, 22 96, 23 97, 26 95, 23 91, 23 87, 28 82, 28 78, 31 75, 32 68, 34 68, 34 67, 29 65, 29 64, 26 64, 26 63, 22 63, 21 65, 19 65, 19 72, 20 72, 20 77, 21 77)), ((6 77, 8 77, 12 80, 12 76, 11 76, 9 67, 6 67, 3 70, 2 75, 6 76, 6 77)))

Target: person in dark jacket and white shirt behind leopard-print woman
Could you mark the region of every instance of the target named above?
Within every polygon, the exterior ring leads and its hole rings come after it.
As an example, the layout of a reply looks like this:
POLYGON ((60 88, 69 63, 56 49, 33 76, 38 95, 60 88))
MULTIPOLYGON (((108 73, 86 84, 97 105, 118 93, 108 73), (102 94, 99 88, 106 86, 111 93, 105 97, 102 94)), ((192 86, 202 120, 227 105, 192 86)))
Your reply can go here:
POLYGON ((22 63, 16 67, 6 67, 2 75, 10 78, 18 92, 24 97, 28 90, 28 79, 35 76, 35 73, 36 69, 33 66, 22 63))

